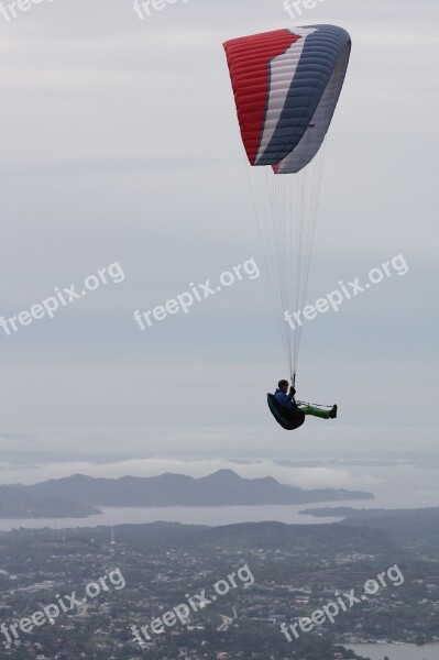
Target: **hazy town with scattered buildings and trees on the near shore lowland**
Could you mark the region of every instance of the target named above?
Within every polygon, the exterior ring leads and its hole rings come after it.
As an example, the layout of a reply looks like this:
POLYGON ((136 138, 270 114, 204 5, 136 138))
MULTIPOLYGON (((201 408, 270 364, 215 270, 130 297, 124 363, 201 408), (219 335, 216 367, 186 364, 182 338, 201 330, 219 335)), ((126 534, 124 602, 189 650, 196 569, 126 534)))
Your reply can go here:
POLYGON ((395 564, 336 526, 294 547, 273 526, 2 534, 2 657, 334 660, 354 657, 343 644, 439 641, 433 554, 407 546, 395 564))

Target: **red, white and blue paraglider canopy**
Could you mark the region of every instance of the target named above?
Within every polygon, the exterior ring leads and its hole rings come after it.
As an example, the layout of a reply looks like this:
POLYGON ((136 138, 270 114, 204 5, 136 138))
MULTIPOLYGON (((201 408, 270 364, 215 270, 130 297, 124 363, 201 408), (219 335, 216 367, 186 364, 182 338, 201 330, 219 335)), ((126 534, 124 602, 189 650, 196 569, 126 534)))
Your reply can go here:
POLYGON ((274 30, 228 41, 224 50, 250 164, 300 172, 331 123, 351 53, 348 32, 274 30))

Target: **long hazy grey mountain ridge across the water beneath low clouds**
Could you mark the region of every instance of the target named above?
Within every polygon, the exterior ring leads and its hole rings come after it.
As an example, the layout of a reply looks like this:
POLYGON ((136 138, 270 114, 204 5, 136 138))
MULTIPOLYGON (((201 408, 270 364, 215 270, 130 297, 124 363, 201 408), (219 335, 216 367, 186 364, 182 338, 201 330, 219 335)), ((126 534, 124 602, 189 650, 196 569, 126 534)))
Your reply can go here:
POLYGON ((320 488, 305 491, 273 477, 243 479, 232 470, 219 470, 194 479, 184 474, 96 479, 81 474, 28 486, 39 497, 64 497, 101 506, 262 506, 374 499, 371 493, 320 488))

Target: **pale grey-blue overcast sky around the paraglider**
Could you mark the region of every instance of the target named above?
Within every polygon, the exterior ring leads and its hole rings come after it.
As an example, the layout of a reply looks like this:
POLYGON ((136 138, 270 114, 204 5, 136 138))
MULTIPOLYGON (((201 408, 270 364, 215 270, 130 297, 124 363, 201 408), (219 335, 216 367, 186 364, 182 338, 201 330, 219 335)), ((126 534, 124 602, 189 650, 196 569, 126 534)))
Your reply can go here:
POLYGON ((437 20, 433 0, 319 0, 297 22, 282 0, 177 0, 143 20, 130 0, 42 0, 0 15, 0 316, 110 264, 124 275, 0 328, 3 452, 433 447, 437 20), (353 52, 308 300, 398 254, 408 273, 306 326, 299 395, 340 418, 293 436, 265 404, 288 374, 222 42, 319 23, 345 28, 353 52), (250 258, 259 278, 134 323, 250 258))

